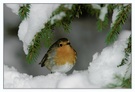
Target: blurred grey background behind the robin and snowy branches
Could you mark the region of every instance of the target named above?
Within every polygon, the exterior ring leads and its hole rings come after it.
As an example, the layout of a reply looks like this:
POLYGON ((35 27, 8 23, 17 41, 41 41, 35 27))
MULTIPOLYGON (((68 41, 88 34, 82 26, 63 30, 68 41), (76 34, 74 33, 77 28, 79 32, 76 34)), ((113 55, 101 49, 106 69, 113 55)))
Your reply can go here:
MULTIPOLYGON (((47 75, 50 73, 46 67, 40 67, 38 64, 48 48, 43 45, 41 47, 40 55, 37 61, 33 64, 26 62, 26 55, 23 51, 22 41, 18 38, 18 27, 21 22, 19 16, 14 14, 10 8, 4 4, 4 65, 13 66, 21 73, 29 75, 47 75)), ((70 74, 73 70, 86 70, 89 63, 92 61, 92 56, 96 52, 101 52, 106 47, 105 38, 109 31, 109 27, 103 31, 98 32, 96 26, 96 17, 83 14, 79 19, 75 19, 71 23, 70 33, 65 33, 61 28, 54 30, 54 41, 59 38, 68 38, 72 47, 77 52, 77 62, 73 69, 68 72, 70 74)), ((111 17, 110 17, 111 23, 111 17)), ((122 27, 123 30, 131 30, 131 15, 122 27)))

